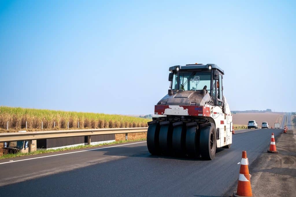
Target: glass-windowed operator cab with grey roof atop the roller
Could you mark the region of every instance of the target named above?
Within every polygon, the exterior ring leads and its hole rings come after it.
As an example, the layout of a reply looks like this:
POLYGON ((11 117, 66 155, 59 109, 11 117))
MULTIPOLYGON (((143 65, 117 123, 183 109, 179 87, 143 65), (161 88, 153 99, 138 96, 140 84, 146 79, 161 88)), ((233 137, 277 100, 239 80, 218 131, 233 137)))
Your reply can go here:
POLYGON ((186 64, 172 66, 169 71, 170 91, 209 93, 214 105, 223 106, 224 71, 216 64, 186 64))

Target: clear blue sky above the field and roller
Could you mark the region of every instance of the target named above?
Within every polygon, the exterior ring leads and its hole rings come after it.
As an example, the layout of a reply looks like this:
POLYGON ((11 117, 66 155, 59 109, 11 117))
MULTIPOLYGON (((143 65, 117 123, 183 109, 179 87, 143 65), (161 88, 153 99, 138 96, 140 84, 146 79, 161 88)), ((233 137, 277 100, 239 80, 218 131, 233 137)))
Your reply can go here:
POLYGON ((231 110, 296 111, 295 1, 1 1, 0 105, 150 114, 212 63, 231 110))

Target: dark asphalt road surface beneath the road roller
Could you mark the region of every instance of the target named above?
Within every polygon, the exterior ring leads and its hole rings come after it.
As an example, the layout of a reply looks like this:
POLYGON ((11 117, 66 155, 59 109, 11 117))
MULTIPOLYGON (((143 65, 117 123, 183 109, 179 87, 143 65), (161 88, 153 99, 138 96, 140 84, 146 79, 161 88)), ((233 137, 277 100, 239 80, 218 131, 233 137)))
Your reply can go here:
POLYGON ((272 132, 277 138, 282 130, 237 133, 212 161, 152 156, 146 142, 5 159, 0 196, 230 196, 242 151, 251 165, 268 149, 272 132))

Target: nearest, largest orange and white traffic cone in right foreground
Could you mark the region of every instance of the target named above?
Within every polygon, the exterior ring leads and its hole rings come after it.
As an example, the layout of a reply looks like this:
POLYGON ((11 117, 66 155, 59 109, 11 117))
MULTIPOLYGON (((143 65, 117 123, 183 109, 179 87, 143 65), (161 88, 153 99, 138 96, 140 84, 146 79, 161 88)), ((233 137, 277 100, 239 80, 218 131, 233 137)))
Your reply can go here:
POLYGON ((233 192, 233 196, 252 196, 251 175, 249 174, 249 161, 247 152, 242 152, 241 166, 239 169, 239 181, 237 183, 237 191, 233 192))

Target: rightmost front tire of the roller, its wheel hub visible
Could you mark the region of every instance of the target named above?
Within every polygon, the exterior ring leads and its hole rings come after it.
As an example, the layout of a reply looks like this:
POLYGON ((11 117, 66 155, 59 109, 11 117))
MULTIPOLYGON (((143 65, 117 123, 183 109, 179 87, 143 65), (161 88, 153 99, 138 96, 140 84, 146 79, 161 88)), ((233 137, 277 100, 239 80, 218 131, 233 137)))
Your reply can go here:
POLYGON ((217 148, 216 127, 211 126, 200 128, 200 154, 202 158, 213 160, 217 148))

